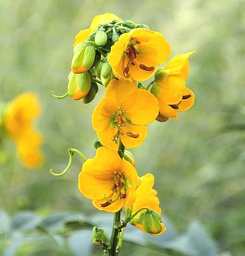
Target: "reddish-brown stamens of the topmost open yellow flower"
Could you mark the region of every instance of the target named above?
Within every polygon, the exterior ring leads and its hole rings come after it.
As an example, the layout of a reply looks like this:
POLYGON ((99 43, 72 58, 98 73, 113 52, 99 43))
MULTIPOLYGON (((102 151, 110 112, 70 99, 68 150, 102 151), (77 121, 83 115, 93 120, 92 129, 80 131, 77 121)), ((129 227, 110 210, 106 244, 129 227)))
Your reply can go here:
POLYGON ((141 54, 140 49, 137 47, 137 44, 140 44, 140 41, 138 40, 134 40, 134 38, 131 36, 130 40, 129 40, 129 44, 126 48, 126 55, 129 59, 129 62, 127 63, 126 67, 123 70, 123 76, 125 77, 129 77, 129 63, 132 66, 136 66, 136 64, 138 64, 138 66, 140 67, 140 69, 145 70, 145 71, 152 71, 155 69, 155 67, 147 67, 144 64, 140 64, 138 63, 138 61, 136 60, 137 55, 141 54), (136 49, 137 48, 137 49, 136 49))

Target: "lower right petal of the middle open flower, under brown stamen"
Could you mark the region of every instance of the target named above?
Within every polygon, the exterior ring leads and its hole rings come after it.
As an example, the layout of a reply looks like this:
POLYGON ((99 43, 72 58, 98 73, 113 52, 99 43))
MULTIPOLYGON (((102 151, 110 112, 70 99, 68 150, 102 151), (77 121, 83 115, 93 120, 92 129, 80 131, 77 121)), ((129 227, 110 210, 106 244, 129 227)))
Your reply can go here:
POLYGON ((133 125, 129 124, 126 128, 123 127, 124 136, 120 135, 120 138, 123 142, 123 145, 126 148, 137 147, 141 145, 141 143, 147 137, 147 127, 144 125, 133 125), (131 132, 132 134, 140 134, 138 138, 131 138, 126 135, 126 132, 131 132))

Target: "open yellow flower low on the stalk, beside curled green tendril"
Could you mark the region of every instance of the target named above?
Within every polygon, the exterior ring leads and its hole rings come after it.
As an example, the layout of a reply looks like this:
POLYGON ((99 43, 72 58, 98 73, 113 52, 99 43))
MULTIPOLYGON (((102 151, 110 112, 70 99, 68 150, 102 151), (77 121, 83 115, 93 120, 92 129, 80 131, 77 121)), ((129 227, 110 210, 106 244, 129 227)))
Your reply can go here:
POLYGON ((83 164, 78 177, 81 193, 93 199, 93 205, 99 210, 108 212, 119 211, 129 196, 133 197, 130 194, 133 194, 137 184, 135 168, 124 158, 121 159, 118 152, 105 147, 99 147, 95 158, 83 164))

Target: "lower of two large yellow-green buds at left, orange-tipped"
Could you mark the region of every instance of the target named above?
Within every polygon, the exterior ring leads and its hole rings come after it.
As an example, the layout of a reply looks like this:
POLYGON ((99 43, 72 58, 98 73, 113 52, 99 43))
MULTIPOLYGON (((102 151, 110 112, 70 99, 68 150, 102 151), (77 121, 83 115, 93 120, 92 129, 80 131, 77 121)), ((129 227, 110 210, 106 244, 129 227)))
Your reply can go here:
POLYGON ((91 78, 88 72, 72 74, 68 83, 68 93, 73 100, 80 100, 85 97, 91 86, 91 78))

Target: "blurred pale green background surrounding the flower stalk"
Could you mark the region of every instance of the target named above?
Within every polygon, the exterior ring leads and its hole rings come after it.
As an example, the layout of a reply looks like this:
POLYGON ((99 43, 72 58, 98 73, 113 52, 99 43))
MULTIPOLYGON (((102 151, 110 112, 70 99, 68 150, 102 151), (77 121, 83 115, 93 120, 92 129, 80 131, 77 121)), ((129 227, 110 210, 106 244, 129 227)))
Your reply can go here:
MULTIPOLYGON (((0 209, 12 217, 26 210, 41 217, 57 212, 98 213, 77 188, 82 166, 77 155, 65 176, 53 177, 49 169, 60 172, 66 167, 69 147, 94 157, 97 136, 91 118, 104 88, 99 87, 88 105, 70 97, 58 100, 49 92, 62 95, 67 91, 77 32, 89 28, 95 15, 112 12, 161 32, 171 45, 172 57, 196 50, 189 59, 186 82, 196 94, 194 107, 180 113, 178 120, 150 124, 145 142, 131 152, 139 175, 155 175, 163 216, 178 233, 199 221, 220 252, 243 256, 244 7, 244 0, 1 1, 0 100, 11 101, 24 91, 39 95, 43 113, 36 127, 44 135, 46 162, 39 170, 25 170, 14 142, 2 142, 0 209)), ((7 246, 6 241, 0 246, 7 246)), ((123 250, 124 255, 133 255, 126 247, 123 250)), ((47 255, 69 254, 64 249, 47 255)))

